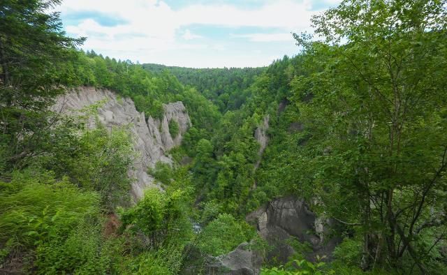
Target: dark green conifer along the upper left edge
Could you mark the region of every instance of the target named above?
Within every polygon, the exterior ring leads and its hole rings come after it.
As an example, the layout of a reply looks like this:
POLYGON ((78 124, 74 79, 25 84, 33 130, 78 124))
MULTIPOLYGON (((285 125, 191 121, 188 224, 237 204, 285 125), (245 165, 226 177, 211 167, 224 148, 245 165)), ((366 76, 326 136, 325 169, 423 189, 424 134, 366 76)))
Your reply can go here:
POLYGON ((45 143, 57 120, 47 109, 62 92, 59 69, 83 41, 66 37, 59 14, 49 13, 59 3, 5 0, 0 5, 0 154, 8 165, 20 165, 45 143))

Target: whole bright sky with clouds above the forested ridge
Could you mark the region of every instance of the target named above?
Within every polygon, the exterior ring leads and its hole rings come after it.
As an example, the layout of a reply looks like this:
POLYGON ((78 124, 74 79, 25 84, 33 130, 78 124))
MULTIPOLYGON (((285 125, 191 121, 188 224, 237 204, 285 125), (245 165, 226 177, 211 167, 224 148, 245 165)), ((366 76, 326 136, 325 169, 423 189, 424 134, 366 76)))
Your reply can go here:
POLYGON ((339 0, 64 0, 68 36, 115 59, 191 68, 268 66, 298 53, 292 32, 339 0))

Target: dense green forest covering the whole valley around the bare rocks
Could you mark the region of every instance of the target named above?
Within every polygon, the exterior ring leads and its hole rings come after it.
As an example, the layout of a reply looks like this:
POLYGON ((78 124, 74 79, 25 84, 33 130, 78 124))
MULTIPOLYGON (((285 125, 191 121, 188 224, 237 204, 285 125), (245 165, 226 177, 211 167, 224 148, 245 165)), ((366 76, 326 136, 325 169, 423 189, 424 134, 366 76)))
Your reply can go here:
POLYGON ((447 1, 344 0, 312 18, 314 36, 293 34, 294 57, 223 69, 83 52, 47 13, 59 3, 0 3, 0 274, 209 274, 244 241, 266 255, 245 217, 291 195, 339 242, 328 261, 298 244, 261 274, 446 274, 447 1), (125 127, 52 110, 80 86, 146 117, 184 103, 174 164, 149 170, 163 191, 131 200, 125 127))

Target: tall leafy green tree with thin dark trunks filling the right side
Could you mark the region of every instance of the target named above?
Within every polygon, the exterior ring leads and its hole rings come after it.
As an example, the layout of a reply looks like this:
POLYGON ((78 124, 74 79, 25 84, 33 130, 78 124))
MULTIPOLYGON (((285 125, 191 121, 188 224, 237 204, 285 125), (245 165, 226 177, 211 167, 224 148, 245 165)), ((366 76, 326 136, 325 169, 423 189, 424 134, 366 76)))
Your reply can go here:
POLYGON ((313 18, 325 40, 294 34, 316 69, 293 81, 312 135, 302 170, 327 211, 360 227, 363 269, 411 259, 426 273, 447 237, 446 4, 346 0, 313 18))

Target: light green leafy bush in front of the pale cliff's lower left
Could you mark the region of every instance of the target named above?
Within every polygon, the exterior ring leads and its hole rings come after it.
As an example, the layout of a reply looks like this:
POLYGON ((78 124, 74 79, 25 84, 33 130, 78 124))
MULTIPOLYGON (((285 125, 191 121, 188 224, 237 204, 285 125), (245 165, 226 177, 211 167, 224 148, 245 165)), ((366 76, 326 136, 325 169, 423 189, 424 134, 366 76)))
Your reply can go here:
POLYGON ((78 130, 78 125, 60 124, 53 129, 53 142, 45 156, 34 158, 38 165, 67 176, 86 190, 101 195, 101 205, 108 210, 129 202, 132 167, 135 152, 126 128, 78 130))

